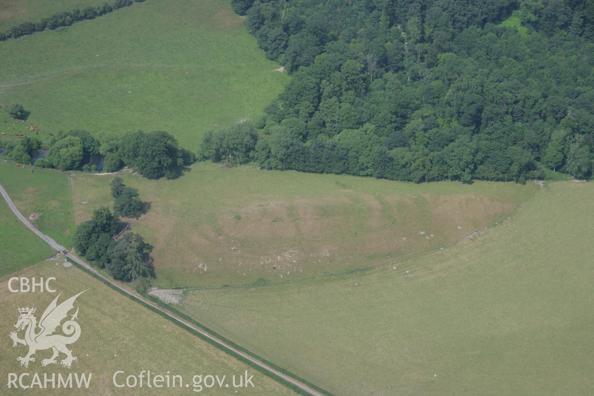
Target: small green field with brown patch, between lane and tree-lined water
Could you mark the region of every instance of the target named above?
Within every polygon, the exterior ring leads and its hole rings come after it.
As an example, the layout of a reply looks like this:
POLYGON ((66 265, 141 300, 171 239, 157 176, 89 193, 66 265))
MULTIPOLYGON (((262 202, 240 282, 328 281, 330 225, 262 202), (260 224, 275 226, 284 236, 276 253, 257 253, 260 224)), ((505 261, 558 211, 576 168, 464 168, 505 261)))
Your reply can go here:
POLYGON ((44 169, 31 173, 30 168, 0 161, 0 182, 24 217, 37 215, 30 222, 41 232, 66 247, 72 244, 74 218, 67 173, 44 169))

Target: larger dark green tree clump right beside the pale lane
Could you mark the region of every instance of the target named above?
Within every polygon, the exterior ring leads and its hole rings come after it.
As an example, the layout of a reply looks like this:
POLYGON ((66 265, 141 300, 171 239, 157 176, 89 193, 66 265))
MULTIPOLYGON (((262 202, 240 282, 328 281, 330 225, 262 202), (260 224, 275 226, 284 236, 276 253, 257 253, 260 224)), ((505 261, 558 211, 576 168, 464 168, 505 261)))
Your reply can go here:
POLYGON ((131 282, 154 277, 150 256, 153 246, 132 232, 114 240, 119 223, 108 207, 94 210, 91 220, 80 224, 72 237, 77 253, 97 267, 106 268, 116 280, 131 282))

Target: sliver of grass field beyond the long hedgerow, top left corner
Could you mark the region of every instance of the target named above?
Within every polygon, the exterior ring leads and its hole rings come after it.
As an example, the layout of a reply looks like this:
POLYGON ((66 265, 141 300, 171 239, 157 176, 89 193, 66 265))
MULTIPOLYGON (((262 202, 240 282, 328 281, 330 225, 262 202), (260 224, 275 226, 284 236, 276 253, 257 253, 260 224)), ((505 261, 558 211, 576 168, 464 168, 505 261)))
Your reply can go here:
POLYGON ((100 5, 104 0, 2 0, 0 2, 0 31, 23 22, 37 22, 55 12, 71 11, 76 7, 100 5))

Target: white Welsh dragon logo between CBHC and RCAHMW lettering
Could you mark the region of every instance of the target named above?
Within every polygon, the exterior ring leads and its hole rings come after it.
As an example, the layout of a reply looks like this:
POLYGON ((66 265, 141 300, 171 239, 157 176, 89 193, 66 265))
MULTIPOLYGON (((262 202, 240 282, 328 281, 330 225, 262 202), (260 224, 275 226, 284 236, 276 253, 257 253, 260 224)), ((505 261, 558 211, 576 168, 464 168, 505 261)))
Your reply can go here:
POLYGON ((58 363, 56 357, 58 357, 59 353, 66 354, 65 359, 60 362, 66 368, 70 368, 73 360, 78 360, 76 356, 72 356, 72 351, 66 347, 69 344, 74 344, 78 340, 78 337, 80 337, 80 325, 75 321, 75 319, 78 319, 78 305, 76 312, 71 315, 69 320, 62 324, 62 332, 66 335, 53 333, 56 331, 56 327, 60 325, 60 322, 67 318, 68 312, 74 309, 74 300, 87 290, 75 294, 60 305, 57 302, 62 293, 58 294, 58 297, 53 299, 52 303, 43 312, 41 319, 39 319, 39 324, 37 324, 37 318, 33 315, 37 308, 26 307, 18 309, 20 316, 18 316, 17 324, 14 325, 17 331, 11 331, 9 336, 12 338, 13 347, 17 346, 17 344, 29 346, 29 353, 26 356, 17 357, 21 366, 28 368, 29 362, 35 362, 35 358, 32 356, 36 351, 50 348, 53 351, 53 355, 49 359, 43 359, 41 361, 42 366, 58 363), (40 330, 36 332, 37 328, 40 330), (17 333, 21 330, 25 331, 24 340, 18 338, 17 333))

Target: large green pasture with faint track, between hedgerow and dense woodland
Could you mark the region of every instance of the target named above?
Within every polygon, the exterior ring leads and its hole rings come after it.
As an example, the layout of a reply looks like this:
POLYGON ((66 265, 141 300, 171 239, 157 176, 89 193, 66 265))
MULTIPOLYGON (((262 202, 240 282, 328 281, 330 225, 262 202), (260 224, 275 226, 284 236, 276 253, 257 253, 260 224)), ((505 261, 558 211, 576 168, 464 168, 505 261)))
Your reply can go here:
POLYGON ((161 129, 196 150, 204 131, 261 112, 289 79, 242 21, 228 1, 147 1, 7 40, 0 103, 22 103, 48 132, 161 129))

